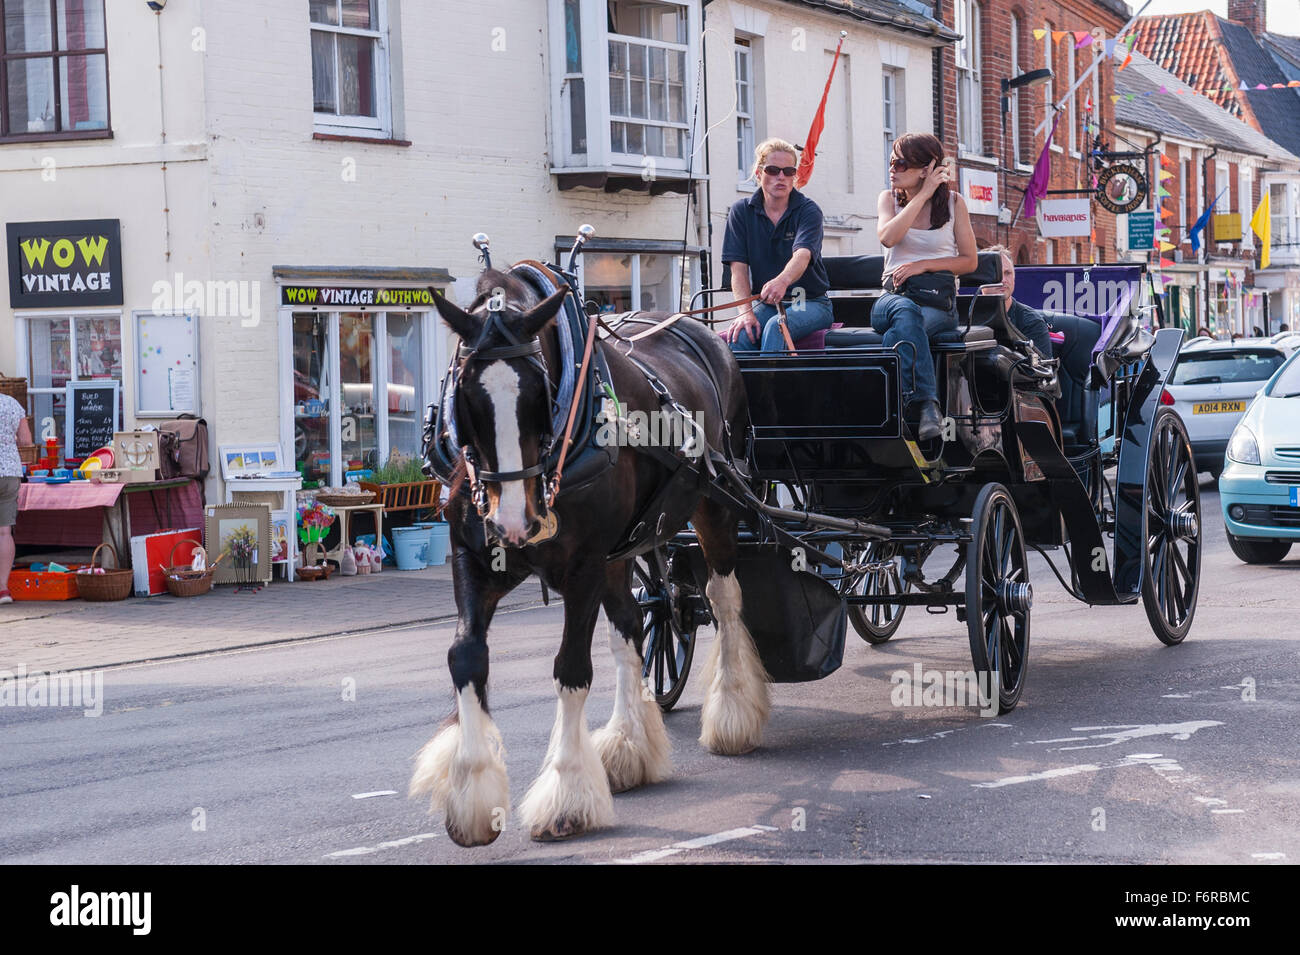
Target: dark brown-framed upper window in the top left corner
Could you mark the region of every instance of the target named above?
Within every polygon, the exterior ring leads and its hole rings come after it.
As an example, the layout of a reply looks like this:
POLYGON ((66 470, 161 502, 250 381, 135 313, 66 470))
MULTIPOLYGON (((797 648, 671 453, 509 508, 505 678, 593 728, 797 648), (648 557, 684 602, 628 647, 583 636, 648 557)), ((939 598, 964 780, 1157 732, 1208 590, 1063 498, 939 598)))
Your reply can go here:
POLYGON ((104 0, 0 0, 0 139, 108 133, 104 0))

